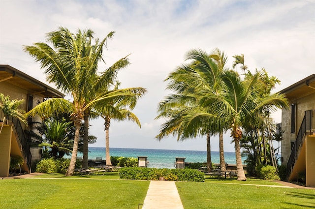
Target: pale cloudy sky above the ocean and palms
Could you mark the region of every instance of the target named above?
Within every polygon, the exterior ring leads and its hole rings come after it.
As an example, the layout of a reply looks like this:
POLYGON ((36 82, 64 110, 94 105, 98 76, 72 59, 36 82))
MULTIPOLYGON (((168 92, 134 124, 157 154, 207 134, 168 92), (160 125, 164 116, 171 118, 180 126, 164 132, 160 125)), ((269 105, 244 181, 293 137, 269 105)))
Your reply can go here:
MULTIPOLYGON (((131 64, 118 74, 121 88, 148 92, 132 111, 141 128, 111 121, 110 147, 206 150, 205 137, 155 139, 165 121, 155 118, 158 102, 170 93, 164 82, 169 73, 184 63, 189 50, 219 48, 228 56, 227 66, 234 55, 244 54, 252 72, 265 68, 281 81, 274 91, 282 90, 315 73, 314 11, 315 0, 1 0, 0 64, 47 83, 23 45, 45 42, 45 34, 59 27, 73 33, 92 29, 100 39, 115 31, 99 71, 130 54, 131 64)), ((273 116, 281 122, 281 111, 273 116)), ((105 147, 103 119, 90 123, 97 137, 90 146, 105 147)), ((219 150, 218 136, 211 138, 211 147, 219 150)), ((224 151, 234 150, 227 132, 224 151)))

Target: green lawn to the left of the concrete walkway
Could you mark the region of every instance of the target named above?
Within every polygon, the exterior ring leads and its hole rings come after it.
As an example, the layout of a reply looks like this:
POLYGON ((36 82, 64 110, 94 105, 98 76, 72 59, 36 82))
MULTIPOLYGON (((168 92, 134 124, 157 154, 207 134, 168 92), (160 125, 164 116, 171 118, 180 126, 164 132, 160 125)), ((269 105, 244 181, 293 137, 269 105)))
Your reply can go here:
POLYGON ((0 180, 0 208, 137 209, 138 204, 143 203, 150 183, 109 180, 101 175, 94 175, 93 178, 64 178, 61 175, 47 177, 52 179, 0 180))

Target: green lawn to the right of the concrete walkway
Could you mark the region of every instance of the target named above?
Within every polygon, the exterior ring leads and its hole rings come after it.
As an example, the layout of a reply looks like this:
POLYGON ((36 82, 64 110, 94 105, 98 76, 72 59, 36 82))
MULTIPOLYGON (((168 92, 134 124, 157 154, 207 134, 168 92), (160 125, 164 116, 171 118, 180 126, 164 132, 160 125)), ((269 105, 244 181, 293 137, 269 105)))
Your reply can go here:
MULTIPOLYGON (((263 186, 263 180, 176 182, 185 209, 299 209, 315 208, 315 190, 263 186)), ((274 182, 272 182, 274 183, 274 182)))

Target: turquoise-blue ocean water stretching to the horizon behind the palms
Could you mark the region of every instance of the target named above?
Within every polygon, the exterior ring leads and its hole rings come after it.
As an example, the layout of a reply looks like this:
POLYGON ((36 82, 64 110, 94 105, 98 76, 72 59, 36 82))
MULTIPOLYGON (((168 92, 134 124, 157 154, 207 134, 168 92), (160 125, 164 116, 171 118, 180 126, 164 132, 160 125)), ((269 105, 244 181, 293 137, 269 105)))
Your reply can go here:
MULTIPOLYGON (((102 157, 106 159, 105 148, 89 147, 89 159, 102 157)), ((193 150, 172 150, 172 149, 128 149, 128 148, 110 148, 111 156, 119 157, 135 157, 147 156, 149 168, 174 168, 176 157, 185 157, 185 162, 206 162, 206 151, 193 150)), ((82 156, 82 153, 78 153, 82 156)), ((220 163, 219 151, 211 152, 211 160, 213 163, 220 163)), ((224 160, 227 164, 236 164, 235 152, 224 152, 224 160)), ((245 158, 243 158, 243 161, 245 158)))

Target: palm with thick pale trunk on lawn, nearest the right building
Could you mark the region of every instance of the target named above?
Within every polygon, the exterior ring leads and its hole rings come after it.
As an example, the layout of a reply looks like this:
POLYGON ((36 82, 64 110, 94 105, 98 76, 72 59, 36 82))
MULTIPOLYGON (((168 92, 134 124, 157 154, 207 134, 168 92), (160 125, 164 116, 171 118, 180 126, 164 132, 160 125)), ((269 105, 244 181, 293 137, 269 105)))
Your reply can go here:
MULTIPOLYGON (((261 73, 255 74, 251 80, 244 80, 233 70, 224 70, 220 76, 221 91, 215 94, 211 91, 200 91, 201 106, 206 110, 204 113, 186 118, 188 130, 200 123, 219 118, 227 124, 235 143, 235 156, 238 180, 246 180, 243 170, 240 140, 242 138, 242 126, 247 119, 251 118, 267 105, 271 110, 287 107, 287 100, 283 94, 275 93, 263 98, 255 96, 254 85, 260 81, 261 73)), ((197 83, 200 78, 195 76, 190 82, 197 83)))

